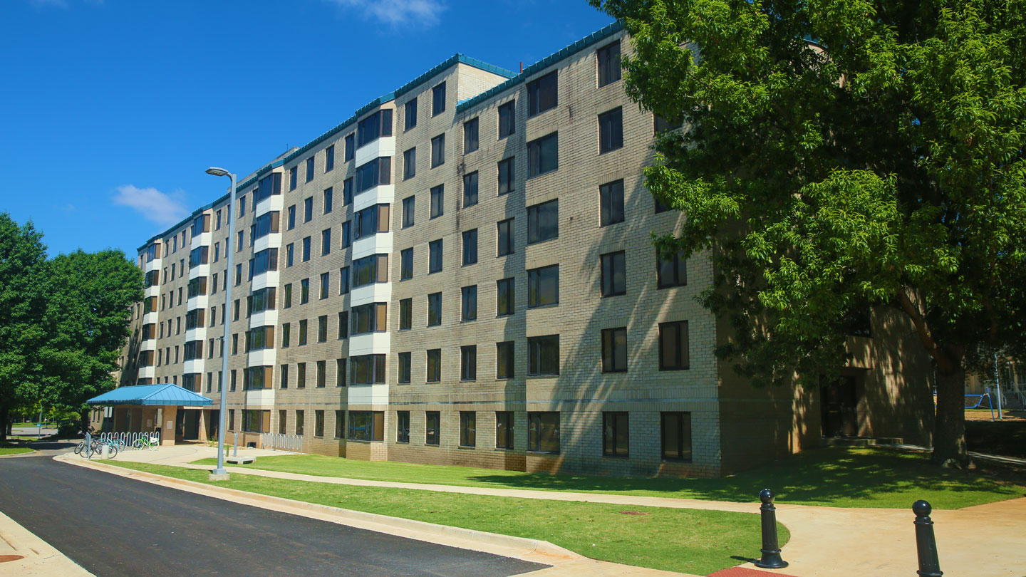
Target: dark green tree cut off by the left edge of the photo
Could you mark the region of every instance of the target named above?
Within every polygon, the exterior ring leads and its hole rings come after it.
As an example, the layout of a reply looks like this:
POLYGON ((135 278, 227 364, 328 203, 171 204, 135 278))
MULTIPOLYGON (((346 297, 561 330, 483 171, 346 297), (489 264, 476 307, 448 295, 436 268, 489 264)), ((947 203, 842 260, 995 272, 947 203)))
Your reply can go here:
POLYGON ((11 411, 39 397, 37 351, 46 338, 42 237, 31 222, 19 226, 0 213, 0 440, 7 438, 11 411))

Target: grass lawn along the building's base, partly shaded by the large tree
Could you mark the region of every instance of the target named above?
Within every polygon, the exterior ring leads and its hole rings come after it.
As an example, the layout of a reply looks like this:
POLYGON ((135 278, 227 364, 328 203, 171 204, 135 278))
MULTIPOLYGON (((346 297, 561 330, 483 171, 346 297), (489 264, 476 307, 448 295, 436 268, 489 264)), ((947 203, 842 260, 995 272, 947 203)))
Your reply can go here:
MULTIPOLYGON (((196 463, 213 465, 215 460, 196 463)), ((723 478, 554 475, 322 455, 261 457, 251 465, 240 466, 373 480, 751 503, 757 503, 759 490, 768 487, 781 503, 832 507, 908 508, 917 499, 926 499, 934 508, 955 509, 1026 495, 1022 485, 1000 483, 975 471, 942 469, 924 455, 844 447, 807 451, 723 478)))

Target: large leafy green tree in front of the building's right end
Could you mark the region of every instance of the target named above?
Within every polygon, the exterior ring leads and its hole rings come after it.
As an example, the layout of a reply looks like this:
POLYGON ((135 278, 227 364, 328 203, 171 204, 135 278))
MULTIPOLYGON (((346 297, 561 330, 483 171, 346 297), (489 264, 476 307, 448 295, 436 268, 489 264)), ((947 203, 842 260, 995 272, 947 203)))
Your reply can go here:
POLYGON ((889 307, 937 371, 934 459, 968 462, 966 355, 1026 335, 1026 3, 591 0, 623 23, 626 89, 684 124, 646 186, 711 248, 717 353, 757 384, 846 360, 889 307))

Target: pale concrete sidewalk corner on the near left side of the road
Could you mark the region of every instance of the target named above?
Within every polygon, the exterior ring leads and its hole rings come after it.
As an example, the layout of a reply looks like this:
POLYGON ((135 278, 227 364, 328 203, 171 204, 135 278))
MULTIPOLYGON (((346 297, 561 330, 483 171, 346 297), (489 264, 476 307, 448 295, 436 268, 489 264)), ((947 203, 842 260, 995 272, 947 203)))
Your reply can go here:
POLYGON ((94 577, 0 511, 0 575, 94 577))

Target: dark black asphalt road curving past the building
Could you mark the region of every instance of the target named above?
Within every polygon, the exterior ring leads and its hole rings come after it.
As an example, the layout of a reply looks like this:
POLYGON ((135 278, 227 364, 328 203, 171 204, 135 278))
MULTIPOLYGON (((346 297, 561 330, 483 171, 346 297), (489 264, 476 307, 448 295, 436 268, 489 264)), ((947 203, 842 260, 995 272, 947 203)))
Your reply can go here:
POLYGON ((0 459, 0 510, 97 577, 481 577, 545 567, 239 505, 48 456, 0 459))

